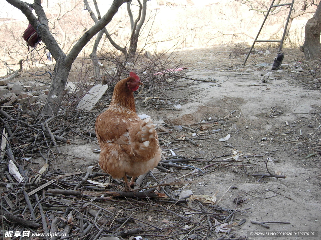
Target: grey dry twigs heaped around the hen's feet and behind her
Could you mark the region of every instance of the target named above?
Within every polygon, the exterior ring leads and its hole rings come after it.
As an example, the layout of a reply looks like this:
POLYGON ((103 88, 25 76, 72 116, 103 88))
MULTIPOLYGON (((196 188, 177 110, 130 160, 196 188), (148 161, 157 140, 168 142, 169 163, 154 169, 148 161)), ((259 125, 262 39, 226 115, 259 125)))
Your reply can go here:
MULTIPOLYGON (((68 112, 44 120, 22 113, 19 109, 0 109, 0 113, 3 139, 6 139, 0 172, 3 180, 3 235, 11 231, 16 237, 30 232, 30 236, 21 239, 29 239, 32 234, 31 239, 36 234, 40 234, 37 237, 41 239, 58 239, 60 236, 60 239, 99 239, 103 236, 117 236, 120 239, 126 236, 207 239, 216 235, 215 230, 229 232, 244 223, 234 216, 244 210, 222 208, 215 202, 208 204, 203 202, 204 199, 191 197, 193 194, 178 197, 181 187, 186 187, 191 181, 186 181, 187 178, 193 179, 223 166, 239 165, 239 161, 225 160, 223 163, 213 161, 213 158, 212 163, 202 158, 166 156, 158 166, 160 171, 173 173, 179 170, 186 173, 179 178, 174 173, 169 174, 163 180, 150 173, 150 176, 142 176, 141 180, 136 181, 144 186, 140 187, 141 191, 122 192, 118 190, 117 180, 105 183, 108 174, 90 170, 71 173, 50 168, 52 157, 59 156, 62 144, 68 144, 77 137, 95 140, 94 132, 88 131, 95 121, 93 114, 84 116, 75 112, 73 116, 72 112, 68 112), (47 172, 30 171, 26 167, 36 155, 46 160, 47 172), (9 160, 20 169, 22 181, 17 182, 9 172, 9 160)), ((191 131, 190 127, 184 129, 191 131)), ((165 135, 170 136, 169 133, 165 135)), ((199 139, 203 137, 198 136, 199 139)), ((161 140, 164 150, 170 146, 171 150, 179 151, 174 148, 176 140, 174 137, 171 144, 161 140)), ((185 140, 197 144, 192 137, 185 140)), ((158 176, 161 177, 160 174, 158 176)), ((230 236, 226 234, 215 239, 228 239, 230 236)))

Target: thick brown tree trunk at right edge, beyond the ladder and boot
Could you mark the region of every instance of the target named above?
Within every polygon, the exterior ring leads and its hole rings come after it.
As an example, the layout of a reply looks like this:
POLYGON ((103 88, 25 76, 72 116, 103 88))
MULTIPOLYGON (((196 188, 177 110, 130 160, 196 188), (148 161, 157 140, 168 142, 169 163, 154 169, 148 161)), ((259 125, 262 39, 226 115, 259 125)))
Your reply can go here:
POLYGON ((304 57, 305 60, 315 60, 321 57, 321 1, 314 13, 313 18, 310 18, 305 25, 305 42, 304 42, 304 57))

